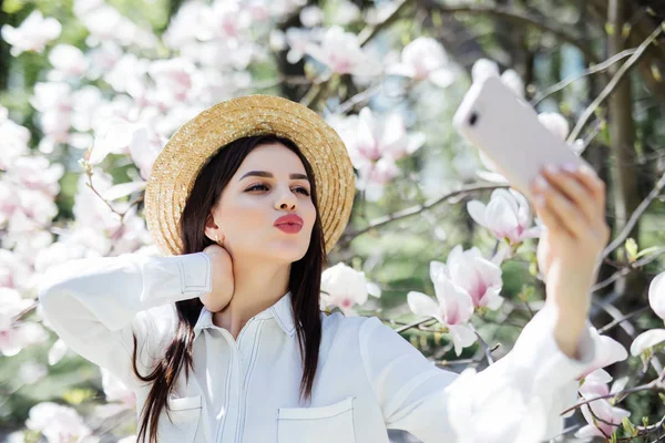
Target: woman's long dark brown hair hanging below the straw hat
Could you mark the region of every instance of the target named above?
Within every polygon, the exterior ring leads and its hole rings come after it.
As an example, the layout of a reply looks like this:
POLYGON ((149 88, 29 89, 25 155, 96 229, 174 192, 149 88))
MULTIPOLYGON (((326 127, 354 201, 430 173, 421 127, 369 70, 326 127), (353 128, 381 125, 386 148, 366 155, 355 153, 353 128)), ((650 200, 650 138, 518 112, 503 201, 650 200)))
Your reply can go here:
MULTIPOLYGON (((298 155, 307 176, 311 182, 311 199, 316 208, 316 222, 311 231, 309 248, 300 260, 291 264, 289 290, 291 308, 298 334, 298 344, 303 359, 303 379, 300 381, 300 399, 311 400, 311 389, 318 364, 319 344, 321 341, 321 320, 319 295, 321 271, 326 265, 324 233, 316 198, 316 183, 309 162, 300 153, 298 146, 288 138, 274 134, 238 138, 208 158, 201 169, 190 197, 183 209, 180 230, 183 239, 182 254, 202 251, 213 240, 205 236, 205 223, 211 209, 218 202, 222 192, 237 172, 245 157, 257 146, 269 143, 282 143, 298 155)), ((157 422, 162 410, 167 406, 167 398, 184 367, 188 380, 190 369, 194 370, 192 346, 194 343, 194 326, 203 308, 198 297, 175 303, 178 323, 173 341, 166 349, 163 359, 158 360, 151 373, 143 377, 136 367, 136 336, 134 336, 133 368, 134 373, 144 382, 152 382, 152 388, 141 413, 141 429, 136 441, 145 441, 150 425, 150 443, 157 442, 157 422)), ((168 412, 168 409, 166 408, 168 412)))

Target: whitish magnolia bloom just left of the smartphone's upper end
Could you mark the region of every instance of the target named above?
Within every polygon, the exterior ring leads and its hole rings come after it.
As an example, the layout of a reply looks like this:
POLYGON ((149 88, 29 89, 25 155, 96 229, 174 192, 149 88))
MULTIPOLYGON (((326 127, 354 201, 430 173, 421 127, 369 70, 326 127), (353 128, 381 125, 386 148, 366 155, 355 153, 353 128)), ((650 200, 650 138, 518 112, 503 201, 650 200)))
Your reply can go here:
POLYGON ((388 68, 388 74, 429 80, 437 86, 449 86, 454 80, 446 50, 434 39, 419 37, 407 44, 401 61, 388 68))

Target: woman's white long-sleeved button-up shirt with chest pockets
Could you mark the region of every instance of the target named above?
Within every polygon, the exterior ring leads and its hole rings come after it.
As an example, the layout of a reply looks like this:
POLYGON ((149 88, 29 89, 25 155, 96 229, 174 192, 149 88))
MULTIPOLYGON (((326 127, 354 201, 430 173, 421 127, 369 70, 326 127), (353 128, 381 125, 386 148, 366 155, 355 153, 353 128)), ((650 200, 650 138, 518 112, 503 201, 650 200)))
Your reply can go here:
MULTIPOLYGON (((44 317, 79 354, 119 377, 141 410, 150 390, 132 370, 132 331, 142 374, 174 337, 175 301, 212 285, 206 254, 122 255, 70 260, 39 288, 44 317)), ((247 321, 238 339, 203 308, 194 372, 184 370, 162 412, 160 442, 388 442, 401 429, 429 442, 535 442, 562 430, 595 341, 585 330, 580 361, 561 352, 548 305, 514 348, 484 371, 458 375, 427 360, 375 317, 321 312, 323 338, 310 404, 298 390, 301 360, 290 293, 247 321), (543 433, 544 432, 544 433, 543 433), (522 439, 522 440, 520 440, 522 439)))

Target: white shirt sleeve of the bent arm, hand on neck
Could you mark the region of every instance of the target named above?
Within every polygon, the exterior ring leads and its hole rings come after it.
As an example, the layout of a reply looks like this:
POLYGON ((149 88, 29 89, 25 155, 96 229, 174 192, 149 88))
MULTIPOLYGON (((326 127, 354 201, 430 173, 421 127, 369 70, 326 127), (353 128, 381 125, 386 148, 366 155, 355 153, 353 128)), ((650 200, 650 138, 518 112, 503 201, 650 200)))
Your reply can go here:
POLYGON ((43 317, 76 353, 108 369, 127 387, 147 373, 177 323, 175 301, 211 291, 204 253, 171 257, 124 254, 84 258, 49 268, 38 286, 43 317))

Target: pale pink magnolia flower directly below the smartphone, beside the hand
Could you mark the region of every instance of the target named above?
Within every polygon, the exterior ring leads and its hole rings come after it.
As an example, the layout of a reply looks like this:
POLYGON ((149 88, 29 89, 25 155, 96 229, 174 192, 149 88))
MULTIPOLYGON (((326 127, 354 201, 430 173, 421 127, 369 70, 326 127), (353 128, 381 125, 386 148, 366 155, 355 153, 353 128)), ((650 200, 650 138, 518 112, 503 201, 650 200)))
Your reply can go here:
POLYGON ((488 205, 471 200, 467 204, 467 210, 475 223, 490 229, 499 240, 508 240, 511 245, 538 238, 542 231, 541 226, 529 227, 532 222, 529 203, 512 188, 494 189, 488 205))

